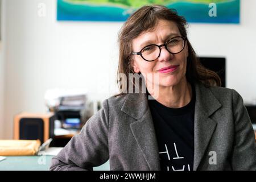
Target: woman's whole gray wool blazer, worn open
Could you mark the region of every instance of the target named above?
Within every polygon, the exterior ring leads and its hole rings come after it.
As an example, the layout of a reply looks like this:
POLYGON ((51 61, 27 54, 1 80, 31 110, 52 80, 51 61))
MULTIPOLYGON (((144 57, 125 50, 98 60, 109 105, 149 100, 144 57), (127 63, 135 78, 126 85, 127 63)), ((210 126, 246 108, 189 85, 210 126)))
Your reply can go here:
MULTIPOLYGON (((195 84, 195 90, 193 170, 256 170, 254 131, 240 94, 203 84, 195 84)), ((92 170, 107 160, 110 170, 160 170, 146 94, 105 100, 80 134, 53 157, 50 169, 92 170)))

